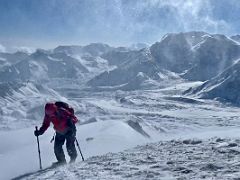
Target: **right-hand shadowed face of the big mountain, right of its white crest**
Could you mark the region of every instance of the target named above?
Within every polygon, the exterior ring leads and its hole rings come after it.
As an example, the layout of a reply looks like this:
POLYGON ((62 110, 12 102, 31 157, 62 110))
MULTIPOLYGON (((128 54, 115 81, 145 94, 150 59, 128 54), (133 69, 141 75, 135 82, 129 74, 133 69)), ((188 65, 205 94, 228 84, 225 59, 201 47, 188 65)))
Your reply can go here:
POLYGON ((196 63, 183 75, 189 80, 209 80, 240 57, 239 44, 224 35, 208 36, 194 51, 196 63))

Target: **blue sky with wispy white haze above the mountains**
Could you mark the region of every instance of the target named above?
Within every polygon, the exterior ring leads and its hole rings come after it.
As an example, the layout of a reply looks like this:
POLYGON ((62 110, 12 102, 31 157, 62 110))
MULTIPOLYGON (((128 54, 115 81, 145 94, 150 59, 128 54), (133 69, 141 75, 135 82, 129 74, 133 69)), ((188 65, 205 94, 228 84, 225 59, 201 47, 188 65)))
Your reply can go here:
POLYGON ((239 0, 0 0, 0 44, 153 43, 168 32, 240 34, 239 0))

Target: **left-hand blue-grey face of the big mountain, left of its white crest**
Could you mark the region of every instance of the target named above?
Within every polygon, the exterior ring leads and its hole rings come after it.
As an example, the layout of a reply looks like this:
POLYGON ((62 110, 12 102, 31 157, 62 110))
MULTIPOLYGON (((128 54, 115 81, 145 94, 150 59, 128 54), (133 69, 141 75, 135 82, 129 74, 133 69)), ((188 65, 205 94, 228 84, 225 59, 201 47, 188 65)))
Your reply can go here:
POLYGON ((190 32, 167 34, 150 48, 151 54, 160 67, 181 73, 192 67, 192 47, 205 39, 206 33, 190 32))

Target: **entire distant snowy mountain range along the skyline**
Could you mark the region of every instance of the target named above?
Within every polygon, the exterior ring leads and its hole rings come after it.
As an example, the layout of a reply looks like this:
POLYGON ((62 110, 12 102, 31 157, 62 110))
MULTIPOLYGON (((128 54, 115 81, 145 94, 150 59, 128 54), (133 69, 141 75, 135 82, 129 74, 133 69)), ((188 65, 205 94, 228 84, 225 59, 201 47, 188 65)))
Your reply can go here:
POLYGON ((9 77, 22 81, 74 77, 77 81, 87 78, 88 85, 94 87, 120 86, 136 78, 139 72, 146 73, 155 84, 161 83, 152 72, 157 74, 162 70, 178 73, 188 80, 209 80, 240 57, 240 45, 224 35, 188 32, 167 34, 160 42, 141 50, 125 48, 122 51, 106 44, 92 43, 87 46, 59 46, 52 51, 37 50, 30 55, 23 53, 17 61, 10 60, 10 57, 18 59, 19 54, 6 55, 0 54, 1 81, 9 81, 9 77), (49 66, 57 67, 58 71, 49 71, 49 66), (126 74, 127 78, 118 80, 119 73, 126 74))

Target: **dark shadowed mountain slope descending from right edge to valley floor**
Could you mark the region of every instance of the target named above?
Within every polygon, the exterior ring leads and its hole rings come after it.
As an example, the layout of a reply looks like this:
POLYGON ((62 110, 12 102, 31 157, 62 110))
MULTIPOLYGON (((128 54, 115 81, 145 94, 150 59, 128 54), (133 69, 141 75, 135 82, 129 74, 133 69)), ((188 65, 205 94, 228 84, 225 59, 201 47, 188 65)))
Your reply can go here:
POLYGON ((228 101, 240 105, 240 61, 227 68, 223 73, 205 82, 203 85, 189 89, 186 93, 201 98, 228 101))

